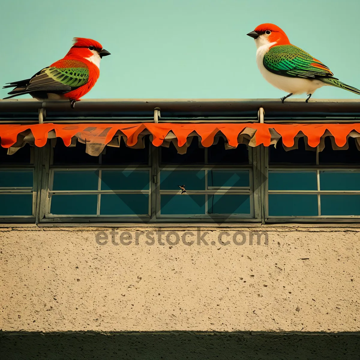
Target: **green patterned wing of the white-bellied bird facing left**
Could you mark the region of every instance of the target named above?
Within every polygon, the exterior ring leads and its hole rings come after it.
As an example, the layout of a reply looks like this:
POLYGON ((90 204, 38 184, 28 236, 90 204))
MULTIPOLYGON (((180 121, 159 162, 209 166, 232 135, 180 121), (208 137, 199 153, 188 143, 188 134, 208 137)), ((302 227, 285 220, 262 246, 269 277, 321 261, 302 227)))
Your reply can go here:
POLYGON ((263 64, 272 73, 302 78, 332 77, 330 69, 294 45, 277 45, 264 55, 263 64))

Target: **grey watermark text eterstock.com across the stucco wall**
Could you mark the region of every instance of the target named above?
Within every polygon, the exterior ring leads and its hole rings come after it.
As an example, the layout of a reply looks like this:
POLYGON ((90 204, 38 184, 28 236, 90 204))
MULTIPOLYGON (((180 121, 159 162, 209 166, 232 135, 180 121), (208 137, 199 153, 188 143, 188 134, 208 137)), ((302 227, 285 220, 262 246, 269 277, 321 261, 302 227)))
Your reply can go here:
POLYGON ((108 231, 99 231, 95 235, 95 240, 98 245, 154 245, 158 244, 160 246, 165 246, 166 244, 170 246, 175 246, 177 244, 183 244, 186 246, 197 245, 197 246, 207 246, 207 245, 217 245, 221 246, 226 245, 265 245, 269 243, 269 235, 266 231, 220 231, 216 240, 210 240, 206 236, 210 234, 210 231, 201 231, 200 228, 197 228, 196 231, 122 231, 119 232, 116 229, 111 229, 108 231))

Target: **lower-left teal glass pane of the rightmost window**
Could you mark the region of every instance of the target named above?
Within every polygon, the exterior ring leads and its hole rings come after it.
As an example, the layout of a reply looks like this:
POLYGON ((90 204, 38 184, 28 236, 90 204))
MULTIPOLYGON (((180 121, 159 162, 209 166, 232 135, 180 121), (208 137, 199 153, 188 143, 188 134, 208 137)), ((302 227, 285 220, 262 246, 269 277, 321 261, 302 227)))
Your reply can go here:
POLYGON ((318 215, 318 195, 269 194, 269 216, 318 215))

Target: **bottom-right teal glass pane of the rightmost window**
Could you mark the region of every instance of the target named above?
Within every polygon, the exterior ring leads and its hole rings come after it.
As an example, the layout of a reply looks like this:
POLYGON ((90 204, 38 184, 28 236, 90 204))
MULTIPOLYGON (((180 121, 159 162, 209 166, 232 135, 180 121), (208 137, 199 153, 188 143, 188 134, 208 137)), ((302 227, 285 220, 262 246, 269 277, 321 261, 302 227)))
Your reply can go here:
POLYGON ((320 195, 321 215, 360 215, 360 195, 320 195))

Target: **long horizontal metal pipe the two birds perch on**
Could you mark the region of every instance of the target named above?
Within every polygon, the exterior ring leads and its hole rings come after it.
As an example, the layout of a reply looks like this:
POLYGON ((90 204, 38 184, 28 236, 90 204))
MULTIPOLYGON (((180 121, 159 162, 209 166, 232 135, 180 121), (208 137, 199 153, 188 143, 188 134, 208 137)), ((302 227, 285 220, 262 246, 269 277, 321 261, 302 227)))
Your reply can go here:
MULTIPOLYGON (((319 99, 305 103, 303 99, 85 99, 71 109, 68 101, 46 101, 46 109, 66 111, 69 115, 84 112, 148 111, 161 108, 162 112, 254 112, 259 108, 276 113, 344 113, 360 114, 360 99, 319 99)), ((42 108, 43 102, 35 99, 0 100, 1 112, 29 112, 42 108)), ((151 115, 150 115, 151 116, 151 115)))

